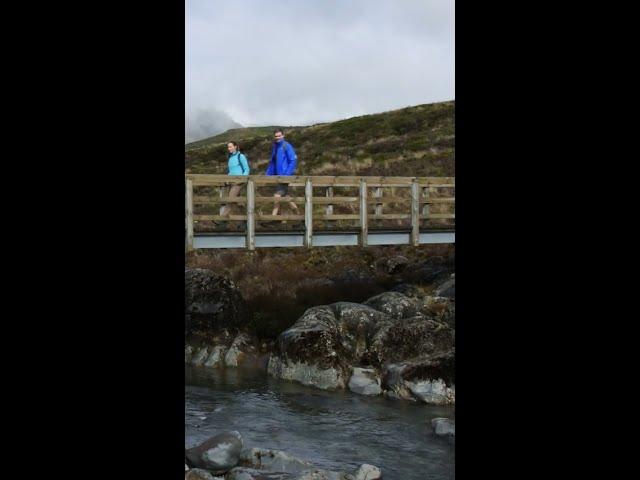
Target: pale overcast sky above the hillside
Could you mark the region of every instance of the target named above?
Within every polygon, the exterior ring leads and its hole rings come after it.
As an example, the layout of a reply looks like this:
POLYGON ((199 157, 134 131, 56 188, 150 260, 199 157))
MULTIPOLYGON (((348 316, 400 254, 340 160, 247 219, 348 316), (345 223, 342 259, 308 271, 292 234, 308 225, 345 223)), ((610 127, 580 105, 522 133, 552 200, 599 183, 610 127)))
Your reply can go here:
POLYGON ((309 125, 455 99, 454 0, 185 3, 193 123, 309 125))

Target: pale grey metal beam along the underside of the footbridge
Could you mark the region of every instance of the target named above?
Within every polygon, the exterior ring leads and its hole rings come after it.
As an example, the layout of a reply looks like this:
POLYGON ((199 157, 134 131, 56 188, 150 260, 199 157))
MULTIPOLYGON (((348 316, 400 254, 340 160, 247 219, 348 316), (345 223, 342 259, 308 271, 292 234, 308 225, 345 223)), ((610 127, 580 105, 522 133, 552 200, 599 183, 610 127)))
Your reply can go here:
MULTIPOLYGON (((314 232, 314 247, 358 246, 360 232, 314 232)), ((256 232, 256 248, 265 247, 303 247, 305 232, 256 232)), ((455 243, 455 231, 426 231, 420 232, 419 243, 455 243)), ((369 231, 367 245, 410 245, 411 232, 397 231, 369 231)), ((193 237, 194 248, 246 248, 247 236, 243 232, 212 232, 197 233, 193 237)))

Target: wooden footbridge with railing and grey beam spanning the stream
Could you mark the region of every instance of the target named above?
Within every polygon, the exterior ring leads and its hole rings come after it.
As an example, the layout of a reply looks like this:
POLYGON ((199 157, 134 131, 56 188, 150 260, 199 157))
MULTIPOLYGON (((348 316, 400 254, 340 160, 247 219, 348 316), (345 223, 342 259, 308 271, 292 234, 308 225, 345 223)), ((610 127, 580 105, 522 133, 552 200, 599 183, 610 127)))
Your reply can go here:
POLYGON ((455 177, 187 174, 185 181, 187 250, 455 243, 455 177), (274 216, 277 184, 289 185, 289 196, 274 216), (239 196, 229 197, 231 185, 242 185, 239 196), (284 214, 289 202, 301 213, 284 214), (220 215, 224 205, 241 213, 220 215))

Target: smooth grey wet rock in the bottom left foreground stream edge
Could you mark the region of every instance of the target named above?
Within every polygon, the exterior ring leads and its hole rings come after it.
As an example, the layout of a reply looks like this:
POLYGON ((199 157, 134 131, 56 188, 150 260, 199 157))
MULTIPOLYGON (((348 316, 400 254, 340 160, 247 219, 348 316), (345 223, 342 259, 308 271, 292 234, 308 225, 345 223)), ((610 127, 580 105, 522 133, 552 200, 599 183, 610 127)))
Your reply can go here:
POLYGON ((223 432, 202 444, 185 451, 187 462, 196 468, 204 468, 218 475, 235 467, 242 452, 242 436, 239 432, 223 432))

